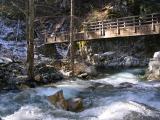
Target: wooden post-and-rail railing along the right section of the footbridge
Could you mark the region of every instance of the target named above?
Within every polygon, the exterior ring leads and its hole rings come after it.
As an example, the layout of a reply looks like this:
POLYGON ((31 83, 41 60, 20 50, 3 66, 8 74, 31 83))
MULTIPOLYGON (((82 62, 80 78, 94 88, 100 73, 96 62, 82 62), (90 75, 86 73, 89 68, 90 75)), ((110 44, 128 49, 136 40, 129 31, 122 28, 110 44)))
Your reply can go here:
POLYGON ((160 22, 160 14, 150 14, 145 16, 131 16, 117 19, 96 21, 96 22, 84 22, 84 29, 86 31, 97 31, 100 29, 109 28, 124 28, 127 26, 140 26, 145 24, 155 24, 160 22))

